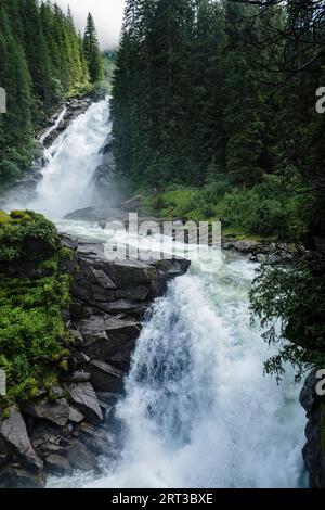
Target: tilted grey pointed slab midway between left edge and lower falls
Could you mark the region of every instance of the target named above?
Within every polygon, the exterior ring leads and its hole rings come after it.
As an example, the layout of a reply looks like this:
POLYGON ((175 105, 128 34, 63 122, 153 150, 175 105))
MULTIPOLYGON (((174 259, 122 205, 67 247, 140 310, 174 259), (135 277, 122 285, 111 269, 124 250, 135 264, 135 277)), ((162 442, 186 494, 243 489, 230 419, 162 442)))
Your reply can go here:
POLYGON ((77 383, 68 386, 72 400, 88 421, 99 424, 103 413, 96 394, 90 383, 77 383))

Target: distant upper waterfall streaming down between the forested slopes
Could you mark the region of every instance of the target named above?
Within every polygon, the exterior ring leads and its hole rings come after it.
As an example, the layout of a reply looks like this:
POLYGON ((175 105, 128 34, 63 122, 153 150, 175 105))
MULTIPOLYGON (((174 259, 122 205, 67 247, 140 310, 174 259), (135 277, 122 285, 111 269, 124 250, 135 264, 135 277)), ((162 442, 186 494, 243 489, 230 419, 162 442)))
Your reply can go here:
MULTIPOLYGON (((93 205, 93 171, 101 163, 100 149, 109 131, 108 101, 92 104, 44 151, 46 165, 36 199, 27 204, 8 204, 9 209, 25 207, 52 219, 93 205)), ((49 132, 47 133, 49 136, 49 132)))

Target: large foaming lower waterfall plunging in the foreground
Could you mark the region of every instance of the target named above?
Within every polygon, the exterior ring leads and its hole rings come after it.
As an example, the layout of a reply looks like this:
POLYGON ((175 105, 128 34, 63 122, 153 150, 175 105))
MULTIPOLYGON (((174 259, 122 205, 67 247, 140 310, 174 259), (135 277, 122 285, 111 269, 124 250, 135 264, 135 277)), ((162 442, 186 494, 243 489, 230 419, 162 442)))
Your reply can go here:
POLYGON ((117 408, 120 460, 104 459, 100 479, 76 474, 52 486, 304 486, 299 387, 289 367, 282 385, 263 377, 275 350, 250 326, 253 271, 227 256, 214 272, 195 264, 171 283, 144 327, 117 408))

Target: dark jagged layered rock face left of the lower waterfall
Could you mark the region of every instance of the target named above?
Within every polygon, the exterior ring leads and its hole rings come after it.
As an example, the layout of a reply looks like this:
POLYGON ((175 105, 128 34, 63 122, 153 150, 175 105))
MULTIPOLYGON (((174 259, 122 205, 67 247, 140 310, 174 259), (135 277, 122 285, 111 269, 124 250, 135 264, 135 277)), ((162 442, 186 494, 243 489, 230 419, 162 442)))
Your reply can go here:
POLYGON ((48 473, 99 470, 115 451, 109 430, 141 319, 187 260, 115 260, 99 243, 63 238, 75 257, 68 372, 51 388, 0 419, 0 487, 43 487, 48 473))

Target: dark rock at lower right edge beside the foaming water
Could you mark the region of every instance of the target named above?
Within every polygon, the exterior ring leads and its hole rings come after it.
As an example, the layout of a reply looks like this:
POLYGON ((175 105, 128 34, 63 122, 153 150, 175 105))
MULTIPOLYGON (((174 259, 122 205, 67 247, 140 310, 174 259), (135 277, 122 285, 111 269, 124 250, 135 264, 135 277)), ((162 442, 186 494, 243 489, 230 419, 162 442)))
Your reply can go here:
POLYGON ((325 400, 316 394, 316 370, 304 382, 300 404, 306 409, 307 444, 302 450, 311 488, 325 488, 325 400))

